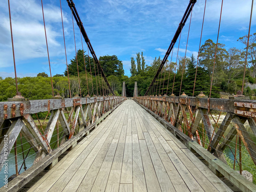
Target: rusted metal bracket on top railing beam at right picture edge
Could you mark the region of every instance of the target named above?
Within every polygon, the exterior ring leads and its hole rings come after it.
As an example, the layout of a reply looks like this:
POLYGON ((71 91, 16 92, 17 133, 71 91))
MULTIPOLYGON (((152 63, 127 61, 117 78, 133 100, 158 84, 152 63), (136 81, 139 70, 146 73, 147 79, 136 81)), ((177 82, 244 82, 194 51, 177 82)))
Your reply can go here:
POLYGON ((256 104, 247 102, 234 102, 234 113, 245 117, 256 117, 256 104))

